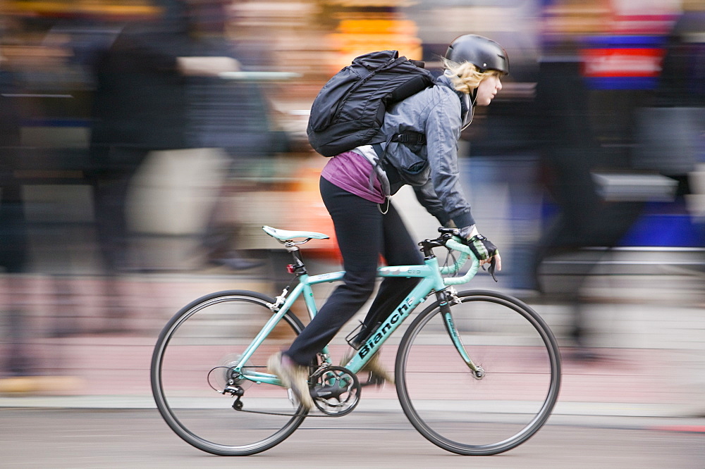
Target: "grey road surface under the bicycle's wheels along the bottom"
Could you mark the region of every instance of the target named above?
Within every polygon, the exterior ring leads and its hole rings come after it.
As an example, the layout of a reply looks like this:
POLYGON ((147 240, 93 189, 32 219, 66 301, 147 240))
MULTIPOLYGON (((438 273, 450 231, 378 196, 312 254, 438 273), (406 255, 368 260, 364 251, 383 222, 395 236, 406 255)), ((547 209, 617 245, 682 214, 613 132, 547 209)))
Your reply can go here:
POLYGON ((256 456, 192 448, 156 409, 0 408, 3 468, 705 468, 705 419, 560 415, 498 456, 456 456, 427 442, 400 411, 309 419, 256 456), (345 442, 349 439, 356 446, 345 442))

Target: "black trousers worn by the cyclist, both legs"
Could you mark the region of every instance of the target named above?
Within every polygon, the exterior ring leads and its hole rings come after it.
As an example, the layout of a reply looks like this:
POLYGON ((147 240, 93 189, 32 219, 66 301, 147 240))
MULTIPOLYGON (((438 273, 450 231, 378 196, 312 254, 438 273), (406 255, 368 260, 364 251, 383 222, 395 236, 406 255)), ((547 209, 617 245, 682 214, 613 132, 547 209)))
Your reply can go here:
MULTIPOLYGON (((316 317, 284 352, 300 365, 311 363, 372 295, 380 255, 387 265, 423 263, 419 247, 391 202, 388 211, 382 214, 374 202, 351 194, 323 177, 320 188, 336 228, 345 276, 343 284, 333 290, 316 317)), ((384 320, 418 282, 418 278, 384 279, 364 324, 372 327, 384 320)))

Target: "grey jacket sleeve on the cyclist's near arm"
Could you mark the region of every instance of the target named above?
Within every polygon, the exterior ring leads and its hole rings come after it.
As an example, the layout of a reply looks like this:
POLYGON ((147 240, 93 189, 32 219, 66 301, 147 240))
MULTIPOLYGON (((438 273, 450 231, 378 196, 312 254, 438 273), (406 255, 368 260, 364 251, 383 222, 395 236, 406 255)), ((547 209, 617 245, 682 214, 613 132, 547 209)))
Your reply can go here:
MULTIPOLYGON (((419 202, 443 225, 453 220, 455 226, 466 227, 474 225, 475 222, 470 212, 470 203, 465 199, 460 185, 458 139, 461 124, 460 100, 455 93, 448 90, 431 109, 426 123, 427 152, 431 169, 429 180, 432 190, 420 188, 425 202, 422 199, 419 199, 419 202), (432 197, 431 194, 435 195, 435 201, 427 199, 432 197), (434 211, 442 210, 444 216, 437 215, 431 208, 434 211)), ((419 191, 417 197, 418 194, 419 191)))

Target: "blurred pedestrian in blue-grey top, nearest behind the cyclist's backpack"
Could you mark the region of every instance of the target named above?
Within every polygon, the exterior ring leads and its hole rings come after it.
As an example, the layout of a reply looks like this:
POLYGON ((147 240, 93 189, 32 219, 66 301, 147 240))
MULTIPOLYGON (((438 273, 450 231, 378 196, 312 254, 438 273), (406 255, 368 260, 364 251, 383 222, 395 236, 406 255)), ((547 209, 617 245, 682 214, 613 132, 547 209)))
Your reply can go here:
POLYGON ((285 132, 272 125, 271 106, 259 81, 223 79, 217 73, 220 68, 209 64, 232 58, 237 70, 241 70, 238 44, 227 35, 228 5, 226 0, 190 2, 190 55, 197 58, 181 60, 202 61, 201 70, 185 72, 188 144, 222 149, 229 157, 227 171, 214 181, 220 192, 210 211, 202 244, 209 262, 240 270, 261 265, 262 259, 252 259, 239 249, 242 227, 238 214, 232 216, 228 207, 230 196, 243 190, 241 187, 251 187, 243 185, 243 180, 255 172, 253 168, 266 166, 271 156, 286 153, 288 139, 285 132))

